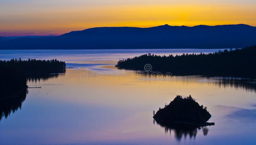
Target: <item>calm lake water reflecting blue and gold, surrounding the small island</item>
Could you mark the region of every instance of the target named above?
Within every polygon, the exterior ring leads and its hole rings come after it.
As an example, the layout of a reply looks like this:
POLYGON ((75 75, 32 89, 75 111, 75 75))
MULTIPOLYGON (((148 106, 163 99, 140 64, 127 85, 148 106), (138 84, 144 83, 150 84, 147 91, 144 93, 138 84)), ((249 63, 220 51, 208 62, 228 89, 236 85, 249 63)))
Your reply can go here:
POLYGON ((29 87, 42 88, 28 89, 21 109, 2 118, 0 144, 256 144, 255 80, 202 76, 151 80, 147 75, 141 80, 136 71, 113 67, 119 59, 148 52, 201 51, 218 50, 0 50, 1 60, 57 58, 74 67, 65 74, 29 78, 29 87), (85 80, 83 74, 92 77, 85 80), (212 115, 208 122, 215 126, 184 131, 154 122, 153 110, 176 95, 189 94, 207 106, 212 115))

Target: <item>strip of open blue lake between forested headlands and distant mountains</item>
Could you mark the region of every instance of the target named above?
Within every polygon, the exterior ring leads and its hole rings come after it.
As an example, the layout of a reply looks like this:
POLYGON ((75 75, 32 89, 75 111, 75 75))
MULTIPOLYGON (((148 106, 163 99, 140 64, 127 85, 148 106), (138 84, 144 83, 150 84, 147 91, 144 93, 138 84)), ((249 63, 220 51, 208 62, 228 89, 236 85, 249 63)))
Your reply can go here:
MULTIPOLYGON (((221 49, 223 50, 223 49, 221 49)), ((77 61, 112 61, 116 62, 119 59, 139 56, 142 54, 157 54, 157 55, 181 55, 213 53, 219 49, 94 49, 94 50, 0 50, 1 60, 10 60, 12 58, 21 59, 59 59, 69 63, 77 61)))

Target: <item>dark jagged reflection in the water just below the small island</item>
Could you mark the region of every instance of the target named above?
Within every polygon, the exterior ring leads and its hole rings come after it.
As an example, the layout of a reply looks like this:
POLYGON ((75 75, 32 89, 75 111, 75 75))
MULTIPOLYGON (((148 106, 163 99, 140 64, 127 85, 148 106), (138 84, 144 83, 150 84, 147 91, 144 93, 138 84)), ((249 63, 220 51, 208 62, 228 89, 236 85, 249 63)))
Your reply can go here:
MULTIPOLYGON (((155 120, 154 120, 155 124, 155 120)), ((160 125, 161 127, 164 128, 165 134, 171 134, 171 132, 174 133, 174 137, 176 138, 177 141, 180 141, 182 137, 184 139, 189 136, 190 139, 195 139, 196 134, 199 130, 202 129, 204 136, 206 136, 209 132, 209 129, 206 126, 194 126, 194 125, 186 125, 186 124, 170 124, 166 122, 157 122, 157 125, 160 125)))

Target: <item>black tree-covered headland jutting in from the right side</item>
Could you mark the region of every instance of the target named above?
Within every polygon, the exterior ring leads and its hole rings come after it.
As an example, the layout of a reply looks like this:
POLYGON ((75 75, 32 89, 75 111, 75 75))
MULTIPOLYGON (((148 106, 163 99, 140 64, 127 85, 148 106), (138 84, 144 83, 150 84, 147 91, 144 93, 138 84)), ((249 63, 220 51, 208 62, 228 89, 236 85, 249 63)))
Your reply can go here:
POLYGON ((255 77, 256 46, 243 49, 225 49, 209 54, 183 54, 159 56, 144 54, 119 60, 119 69, 144 70, 145 64, 152 65, 152 71, 170 72, 172 75, 208 75, 255 77))

